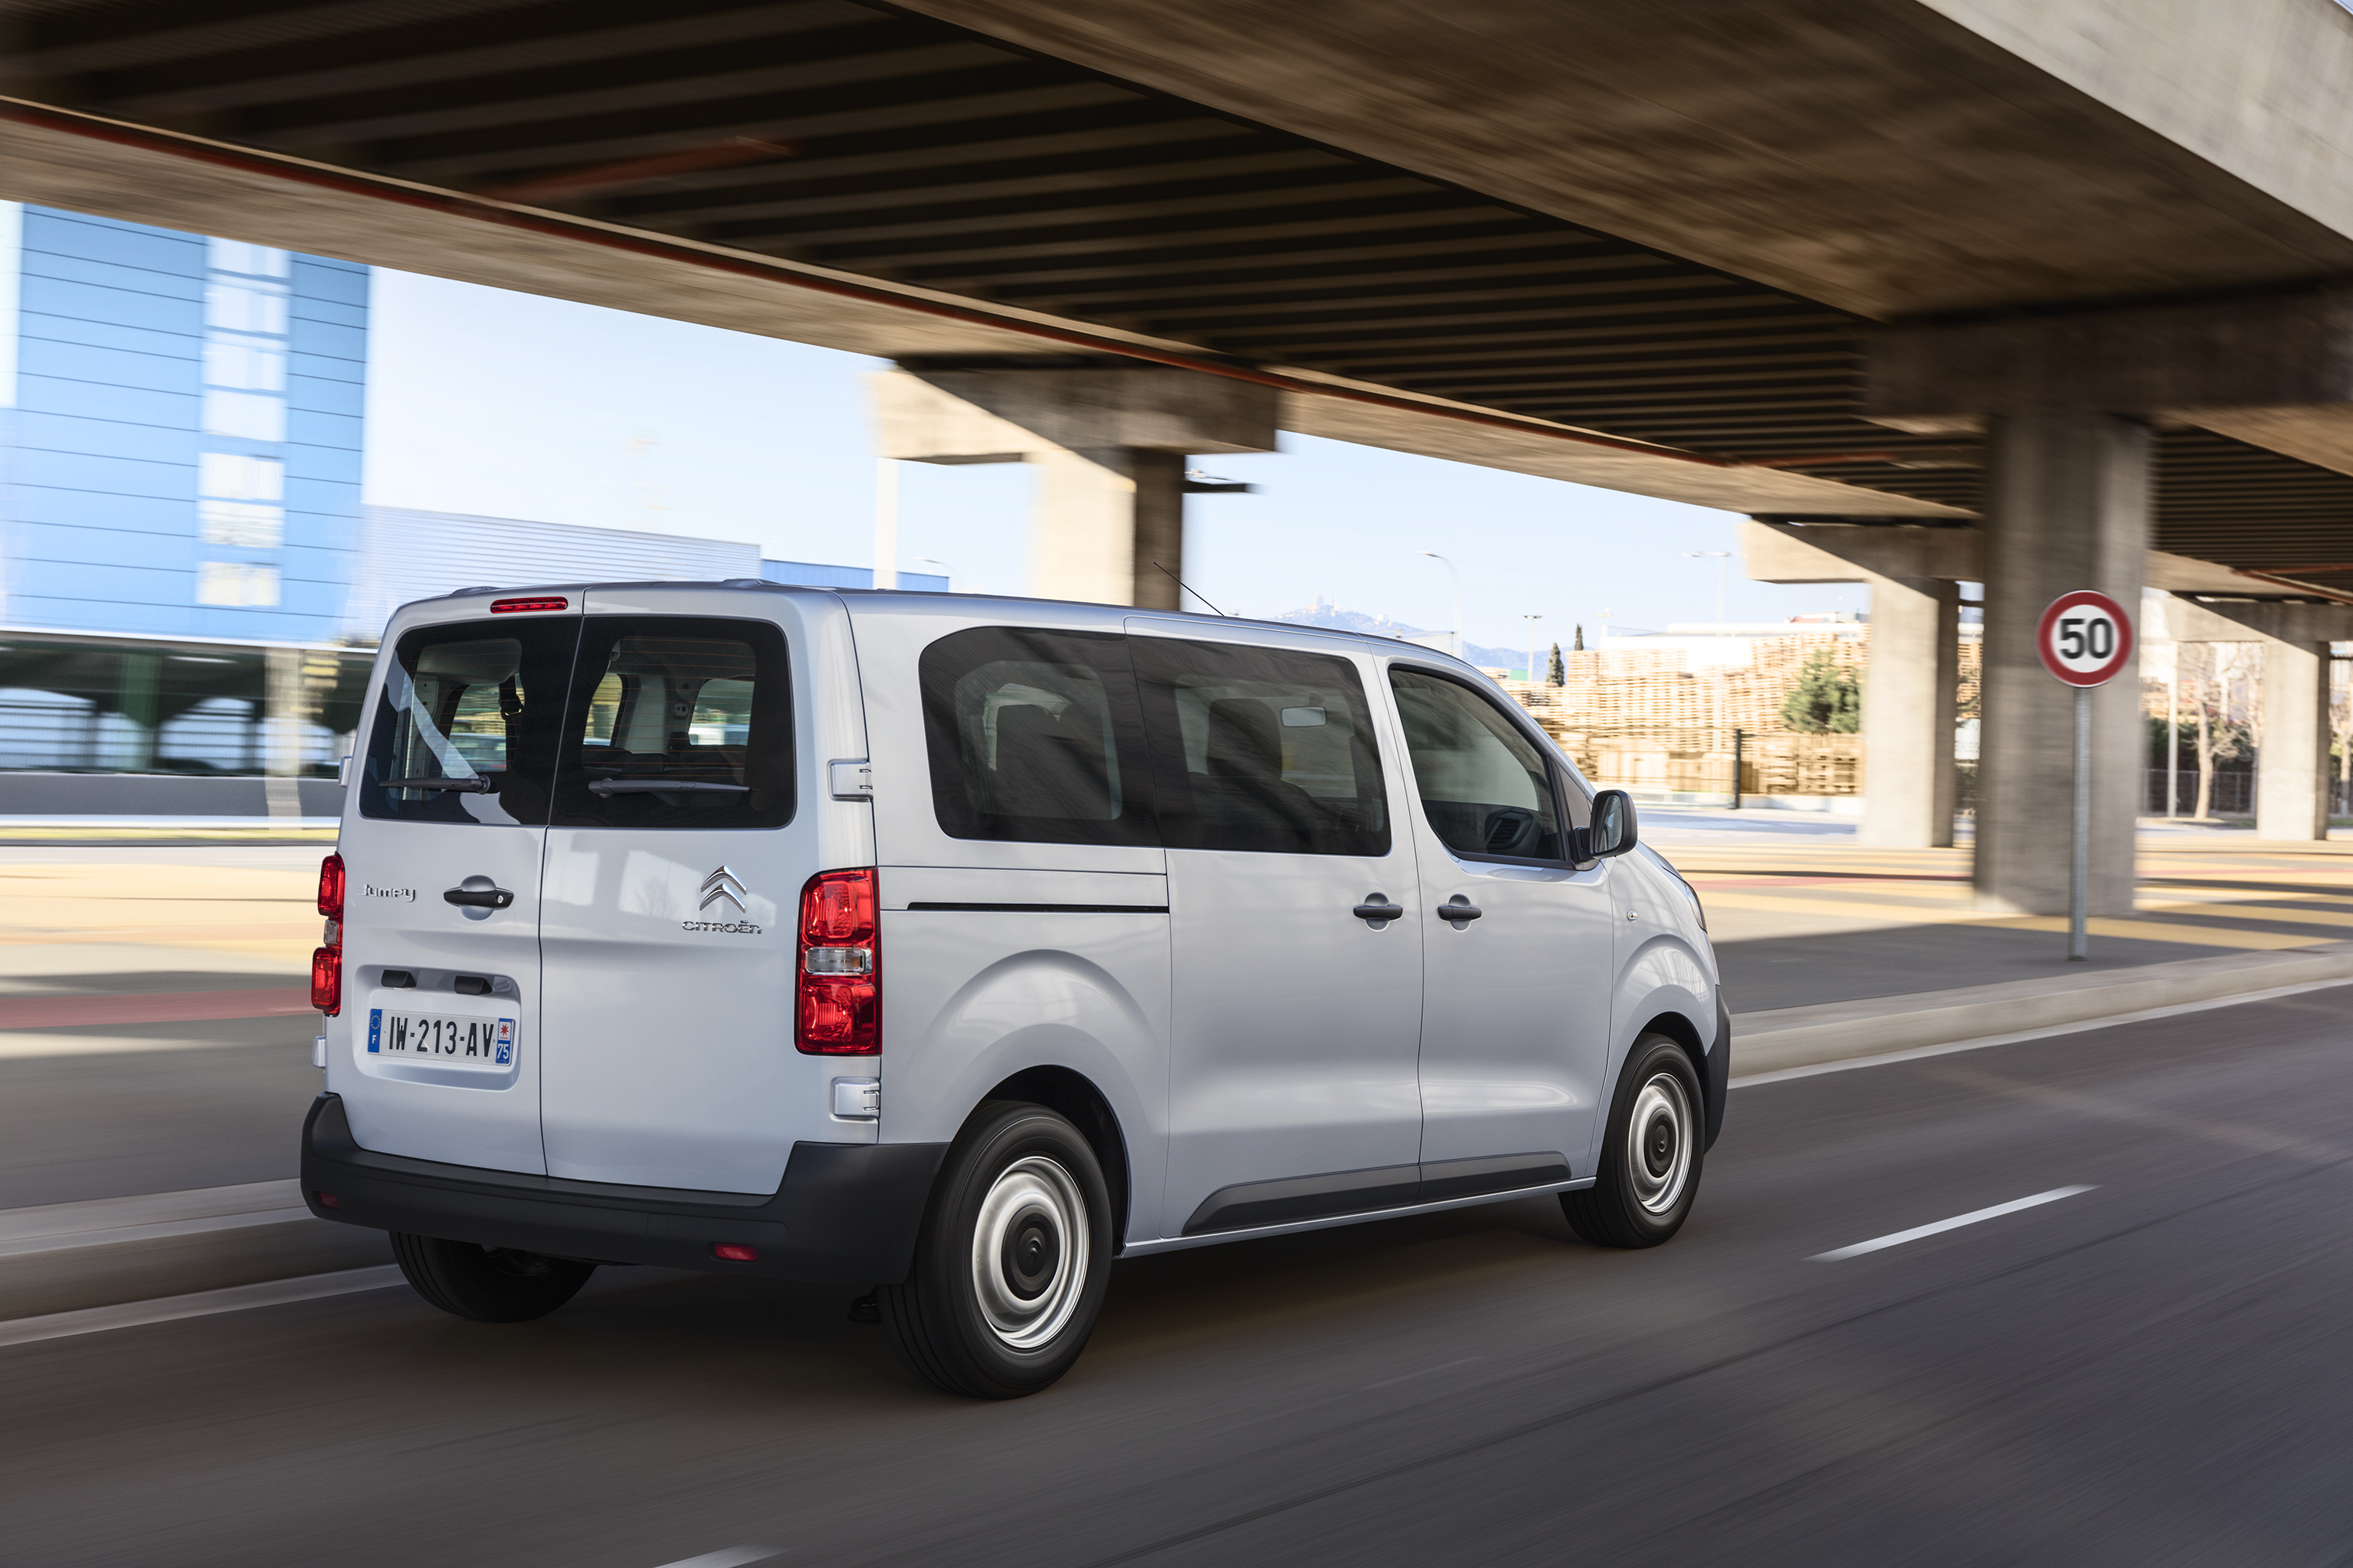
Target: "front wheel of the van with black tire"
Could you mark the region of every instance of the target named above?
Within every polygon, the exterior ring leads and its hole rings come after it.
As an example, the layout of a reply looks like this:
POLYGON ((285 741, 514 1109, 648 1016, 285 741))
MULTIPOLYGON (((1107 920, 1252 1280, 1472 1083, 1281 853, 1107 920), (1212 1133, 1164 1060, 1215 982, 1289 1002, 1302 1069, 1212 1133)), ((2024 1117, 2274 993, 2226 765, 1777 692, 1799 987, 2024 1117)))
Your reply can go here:
POLYGON ((1666 1034, 1645 1034, 1609 1098, 1602 1166, 1591 1187, 1560 1194, 1560 1213, 1593 1246, 1659 1246, 1692 1213, 1706 1143, 1692 1058, 1666 1034))

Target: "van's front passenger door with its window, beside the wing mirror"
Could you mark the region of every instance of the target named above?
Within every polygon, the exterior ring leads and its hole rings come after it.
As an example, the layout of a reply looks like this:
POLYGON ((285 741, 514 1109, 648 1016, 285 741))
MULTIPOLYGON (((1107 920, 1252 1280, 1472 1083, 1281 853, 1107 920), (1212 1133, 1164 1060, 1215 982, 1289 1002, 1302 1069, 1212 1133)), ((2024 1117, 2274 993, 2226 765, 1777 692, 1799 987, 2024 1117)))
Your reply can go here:
POLYGON ((1551 748, 1497 698, 1402 665, 1391 689, 1421 797, 1421 1197, 1569 1180, 1609 1046, 1609 863, 1572 865, 1551 748))

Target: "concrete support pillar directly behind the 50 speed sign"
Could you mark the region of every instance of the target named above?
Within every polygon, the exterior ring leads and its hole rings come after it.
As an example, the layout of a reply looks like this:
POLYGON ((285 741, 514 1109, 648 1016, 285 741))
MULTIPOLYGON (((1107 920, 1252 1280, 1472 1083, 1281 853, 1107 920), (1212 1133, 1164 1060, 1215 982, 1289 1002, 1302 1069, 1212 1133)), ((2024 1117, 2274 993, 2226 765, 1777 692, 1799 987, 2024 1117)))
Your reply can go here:
MULTIPOLYGON (((2066 914, 2075 691, 2035 654, 2042 609, 2073 588, 2141 602, 2148 428, 2115 414, 1993 421, 1986 475, 1986 672, 1977 900, 2066 914)), ((2092 914, 2129 914, 2146 733, 2132 668, 2092 693, 2092 914)))

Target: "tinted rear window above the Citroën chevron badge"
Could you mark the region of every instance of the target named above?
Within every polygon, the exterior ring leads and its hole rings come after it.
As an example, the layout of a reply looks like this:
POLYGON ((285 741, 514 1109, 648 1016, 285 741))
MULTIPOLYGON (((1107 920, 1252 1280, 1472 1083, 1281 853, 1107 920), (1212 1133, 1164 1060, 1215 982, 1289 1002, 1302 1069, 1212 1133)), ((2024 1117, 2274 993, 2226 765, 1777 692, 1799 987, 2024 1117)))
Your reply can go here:
POLYGON ((767 621, 588 616, 560 827, 781 827, 793 689, 767 621))

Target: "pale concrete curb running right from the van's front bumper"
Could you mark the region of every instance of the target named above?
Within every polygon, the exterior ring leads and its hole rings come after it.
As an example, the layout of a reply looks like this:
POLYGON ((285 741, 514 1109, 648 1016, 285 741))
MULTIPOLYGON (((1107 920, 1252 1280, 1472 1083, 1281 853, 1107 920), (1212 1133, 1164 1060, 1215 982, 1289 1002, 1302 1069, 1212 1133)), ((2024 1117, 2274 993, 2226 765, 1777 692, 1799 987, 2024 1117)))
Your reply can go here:
POLYGON ((2325 980, 2353 980, 2353 943, 1734 1013, 1732 1074, 1814 1067, 2325 980))

